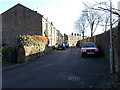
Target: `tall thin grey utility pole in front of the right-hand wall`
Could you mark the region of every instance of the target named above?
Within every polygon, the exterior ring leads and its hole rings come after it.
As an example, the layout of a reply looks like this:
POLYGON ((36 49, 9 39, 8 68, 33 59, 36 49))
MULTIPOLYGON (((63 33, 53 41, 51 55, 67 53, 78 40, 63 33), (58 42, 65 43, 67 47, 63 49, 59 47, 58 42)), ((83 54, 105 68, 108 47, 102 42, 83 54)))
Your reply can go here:
POLYGON ((110 73, 113 73, 113 42, 112 42, 112 0, 110 0, 110 73))

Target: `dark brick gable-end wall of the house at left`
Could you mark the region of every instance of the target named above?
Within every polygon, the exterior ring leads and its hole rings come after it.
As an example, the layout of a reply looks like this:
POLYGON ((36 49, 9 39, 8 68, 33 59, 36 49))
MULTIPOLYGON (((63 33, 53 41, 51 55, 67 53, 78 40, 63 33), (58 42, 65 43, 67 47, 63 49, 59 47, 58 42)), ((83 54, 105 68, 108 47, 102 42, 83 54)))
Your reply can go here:
POLYGON ((15 47, 21 34, 42 35, 42 15, 17 4, 2 13, 2 44, 15 47))

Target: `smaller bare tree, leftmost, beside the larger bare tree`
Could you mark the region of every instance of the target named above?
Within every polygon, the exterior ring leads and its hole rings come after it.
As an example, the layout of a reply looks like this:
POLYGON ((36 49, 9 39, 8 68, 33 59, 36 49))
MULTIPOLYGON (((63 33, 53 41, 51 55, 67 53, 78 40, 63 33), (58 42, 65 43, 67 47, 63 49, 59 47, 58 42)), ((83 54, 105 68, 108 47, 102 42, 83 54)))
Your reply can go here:
POLYGON ((88 27, 87 20, 84 13, 82 13, 78 18, 78 20, 75 21, 74 27, 78 33, 82 34, 82 37, 84 39, 86 28, 88 27))

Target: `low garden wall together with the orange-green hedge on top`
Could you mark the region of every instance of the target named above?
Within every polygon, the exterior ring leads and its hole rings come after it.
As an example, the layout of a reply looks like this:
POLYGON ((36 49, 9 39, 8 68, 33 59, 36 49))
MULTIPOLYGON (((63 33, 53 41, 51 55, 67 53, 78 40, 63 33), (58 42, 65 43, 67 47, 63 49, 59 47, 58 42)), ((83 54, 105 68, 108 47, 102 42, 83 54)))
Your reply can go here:
POLYGON ((18 37, 17 63, 35 60, 46 53, 47 37, 39 35, 21 35, 18 37))

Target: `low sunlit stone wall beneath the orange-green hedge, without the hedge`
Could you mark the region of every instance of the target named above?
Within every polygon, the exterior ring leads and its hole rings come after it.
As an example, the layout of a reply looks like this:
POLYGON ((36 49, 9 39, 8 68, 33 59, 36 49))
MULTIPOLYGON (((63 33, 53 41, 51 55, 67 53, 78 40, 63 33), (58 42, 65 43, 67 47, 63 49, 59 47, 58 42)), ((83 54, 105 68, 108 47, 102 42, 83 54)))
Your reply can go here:
POLYGON ((16 63, 27 63, 29 61, 37 60, 37 58, 51 53, 53 49, 49 46, 44 47, 44 51, 39 52, 40 47, 31 45, 24 46, 18 49, 18 57, 16 63))

